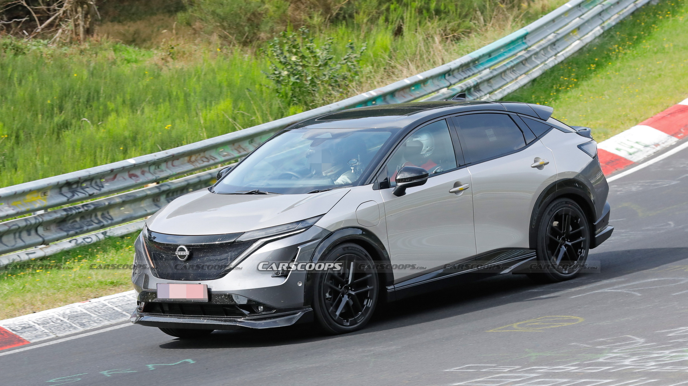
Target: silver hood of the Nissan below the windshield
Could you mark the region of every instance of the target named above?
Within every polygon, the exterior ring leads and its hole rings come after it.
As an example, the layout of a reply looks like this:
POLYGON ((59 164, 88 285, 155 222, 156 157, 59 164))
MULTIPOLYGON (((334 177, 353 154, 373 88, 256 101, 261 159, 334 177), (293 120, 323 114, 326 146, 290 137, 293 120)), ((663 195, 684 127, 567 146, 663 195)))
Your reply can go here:
POLYGON ((232 234, 274 227, 327 213, 349 189, 311 194, 184 194, 146 221, 161 234, 232 234))

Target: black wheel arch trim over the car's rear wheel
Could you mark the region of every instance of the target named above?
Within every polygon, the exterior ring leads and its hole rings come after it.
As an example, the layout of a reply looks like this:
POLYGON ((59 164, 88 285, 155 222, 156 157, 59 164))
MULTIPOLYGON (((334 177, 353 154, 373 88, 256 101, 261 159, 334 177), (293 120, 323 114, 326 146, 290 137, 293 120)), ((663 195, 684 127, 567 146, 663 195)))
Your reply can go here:
POLYGON ((537 247, 537 225, 540 222, 544 210, 557 198, 569 198, 583 209, 583 213, 590 227, 590 236, 593 236, 596 218, 594 211, 594 195, 592 191, 590 191, 588 185, 585 185, 583 181, 577 179, 562 179, 548 185, 537 198, 537 201, 535 201, 533 214, 530 216, 529 244, 531 249, 537 247))

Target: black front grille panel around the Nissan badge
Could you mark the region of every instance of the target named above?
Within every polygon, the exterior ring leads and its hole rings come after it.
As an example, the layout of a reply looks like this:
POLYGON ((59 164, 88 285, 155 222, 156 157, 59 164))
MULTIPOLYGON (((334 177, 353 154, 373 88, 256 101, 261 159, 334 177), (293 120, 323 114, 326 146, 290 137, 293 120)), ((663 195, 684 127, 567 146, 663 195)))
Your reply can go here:
POLYGON ((149 256, 153 260, 155 276, 165 280, 214 280, 226 274, 227 266, 253 241, 218 244, 186 245, 190 256, 182 261, 176 251, 180 244, 162 244, 146 240, 149 256))

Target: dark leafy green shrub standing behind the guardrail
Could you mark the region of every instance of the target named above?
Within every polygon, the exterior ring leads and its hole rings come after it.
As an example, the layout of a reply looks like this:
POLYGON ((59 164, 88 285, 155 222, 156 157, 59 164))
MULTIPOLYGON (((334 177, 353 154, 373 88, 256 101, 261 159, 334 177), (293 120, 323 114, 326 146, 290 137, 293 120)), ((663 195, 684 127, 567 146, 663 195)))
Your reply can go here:
POLYGON ((264 50, 270 60, 270 72, 279 98, 288 105, 312 109, 323 100, 340 97, 358 78, 363 47, 356 51, 354 43, 346 45, 346 54, 337 58, 333 52, 333 38, 327 38, 318 46, 308 30, 301 27, 297 32, 282 32, 268 41, 264 50))

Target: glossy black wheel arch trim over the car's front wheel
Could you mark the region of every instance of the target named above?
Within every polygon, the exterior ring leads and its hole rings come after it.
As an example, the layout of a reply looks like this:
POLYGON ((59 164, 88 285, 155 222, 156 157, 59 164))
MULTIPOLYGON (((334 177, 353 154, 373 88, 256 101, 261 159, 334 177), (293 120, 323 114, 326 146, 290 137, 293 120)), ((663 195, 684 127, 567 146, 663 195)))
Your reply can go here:
MULTIPOLYGON (((365 249, 365 251, 370 254, 370 257, 376 262, 390 262, 389 253, 387 253, 387 248, 385 248, 383 242, 372 231, 358 227, 337 229, 325 236, 316 247, 312 261, 317 262, 322 256, 326 256, 332 249, 345 242, 352 242, 365 249)), ((306 274, 305 293, 303 297, 304 305, 311 305, 312 303, 314 277, 315 275, 312 272, 306 274)), ((392 273, 391 269, 387 268, 378 270, 378 278, 380 280, 380 293, 378 294, 378 298, 382 299, 387 295, 387 286, 394 284, 394 273, 392 273)))

